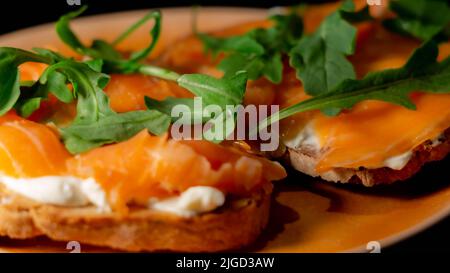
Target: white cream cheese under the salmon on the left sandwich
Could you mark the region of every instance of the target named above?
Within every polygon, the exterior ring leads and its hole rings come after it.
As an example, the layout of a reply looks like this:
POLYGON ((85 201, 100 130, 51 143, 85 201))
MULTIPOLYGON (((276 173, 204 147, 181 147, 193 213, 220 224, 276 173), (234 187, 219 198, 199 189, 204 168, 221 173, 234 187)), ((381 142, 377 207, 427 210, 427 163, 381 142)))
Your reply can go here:
MULTIPOLYGON (((8 190, 36 202, 80 207, 96 206, 101 212, 109 212, 106 194, 93 179, 71 176, 43 176, 38 178, 13 178, 1 176, 0 183, 8 190)), ((207 186, 191 187, 179 196, 167 199, 151 198, 150 209, 174 213, 184 217, 212 211, 225 203, 225 195, 218 189, 207 186)))

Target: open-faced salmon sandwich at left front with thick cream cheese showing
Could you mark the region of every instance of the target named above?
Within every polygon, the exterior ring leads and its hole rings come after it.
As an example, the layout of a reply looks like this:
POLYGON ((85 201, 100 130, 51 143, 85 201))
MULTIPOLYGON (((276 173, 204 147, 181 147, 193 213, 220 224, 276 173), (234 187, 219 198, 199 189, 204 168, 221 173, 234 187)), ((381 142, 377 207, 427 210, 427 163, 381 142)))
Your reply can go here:
POLYGON ((149 16, 152 44, 129 58, 106 42, 82 46, 68 25, 75 15, 57 30, 79 58, 0 49, 0 235, 126 251, 211 252, 254 241, 283 167, 245 145, 166 133, 170 117, 147 109, 144 97, 190 98, 202 82, 186 76, 184 89, 140 62, 157 40, 158 12, 149 16))

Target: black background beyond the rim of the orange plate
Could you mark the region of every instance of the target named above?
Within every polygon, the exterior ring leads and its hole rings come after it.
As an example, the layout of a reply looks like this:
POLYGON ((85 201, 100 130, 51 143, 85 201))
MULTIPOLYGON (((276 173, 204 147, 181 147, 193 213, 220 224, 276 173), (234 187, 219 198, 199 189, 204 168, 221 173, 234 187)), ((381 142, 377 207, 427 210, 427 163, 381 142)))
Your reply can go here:
MULTIPOLYGON (((326 0, 303 1, 303 2, 327 2, 326 0)), ((124 11, 133 9, 148 9, 156 7, 174 6, 246 6, 246 7, 272 7, 298 4, 299 1, 182 1, 182 0, 81 0, 82 4, 89 6, 85 15, 107 13, 114 11, 124 11)), ((70 6, 67 0, 53 1, 23 1, 8 0, 0 3, 0 34, 11 32, 17 29, 34 26, 37 24, 53 22, 60 15, 75 10, 77 6, 70 6)), ((0 45, 1 46, 1 45, 0 45)), ((449 160, 446 160, 448 165, 449 160)), ((444 164, 444 165, 445 165, 444 164)), ((383 252, 428 252, 442 251, 448 252, 450 245, 450 218, 445 219, 438 225, 396 244, 393 247, 384 249, 383 252)))

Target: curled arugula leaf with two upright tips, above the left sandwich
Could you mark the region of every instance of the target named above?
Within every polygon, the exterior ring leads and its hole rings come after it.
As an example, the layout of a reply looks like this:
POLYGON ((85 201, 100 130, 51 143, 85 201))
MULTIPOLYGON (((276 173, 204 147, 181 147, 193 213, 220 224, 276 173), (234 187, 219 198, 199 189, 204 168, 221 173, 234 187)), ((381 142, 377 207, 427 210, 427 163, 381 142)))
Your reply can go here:
POLYGON ((70 21, 80 16, 86 9, 87 6, 83 6, 78 11, 63 15, 58 20, 56 23, 56 32, 58 33, 60 39, 81 55, 89 56, 94 59, 102 59, 105 64, 103 67, 105 72, 136 72, 139 69, 138 62, 145 59, 152 52, 159 39, 161 29, 161 13, 159 11, 149 12, 146 16, 119 35, 119 37, 112 43, 108 43, 103 40, 94 40, 92 45, 88 47, 78 39, 70 28, 70 21), (155 23, 150 31, 150 35, 152 37, 150 44, 143 50, 131 54, 129 59, 125 59, 122 54, 115 49, 115 46, 151 19, 153 19, 155 23))

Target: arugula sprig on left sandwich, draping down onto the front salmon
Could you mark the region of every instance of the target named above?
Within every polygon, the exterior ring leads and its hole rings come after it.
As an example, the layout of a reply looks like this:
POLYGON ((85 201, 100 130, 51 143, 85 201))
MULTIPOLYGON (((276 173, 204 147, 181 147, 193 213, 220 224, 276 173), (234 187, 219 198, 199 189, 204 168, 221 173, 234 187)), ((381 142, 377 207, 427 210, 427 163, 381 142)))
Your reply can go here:
POLYGON ((141 130, 153 134, 167 131, 170 117, 157 110, 116 113, 103 89, 109 76, 101 73, 103 61, 78 62, 47 49, 38 54, 15 48, 0 48, 0 103, 2 114, 13 106, 24 117, 40 107, 52 93, 70 103, 77 98, 77 115, 68 127, 59 128, 71 153, 126 140, 141 130), (48 64, 39 81, 20 85, 18 66, 25 62, 48 64), (73 91, 67 86, 72 84, 73 91))

